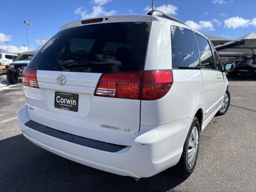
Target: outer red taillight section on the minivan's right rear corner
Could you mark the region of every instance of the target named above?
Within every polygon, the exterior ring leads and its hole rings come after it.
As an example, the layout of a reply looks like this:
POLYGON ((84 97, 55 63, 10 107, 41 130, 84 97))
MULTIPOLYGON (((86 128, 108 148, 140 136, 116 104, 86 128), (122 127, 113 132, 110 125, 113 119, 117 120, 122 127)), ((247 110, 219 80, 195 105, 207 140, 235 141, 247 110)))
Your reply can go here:
POLYGON ((142 100, 156 100, 165 96, 173 83, 172 70, 144 71, 142 78, 142 100))

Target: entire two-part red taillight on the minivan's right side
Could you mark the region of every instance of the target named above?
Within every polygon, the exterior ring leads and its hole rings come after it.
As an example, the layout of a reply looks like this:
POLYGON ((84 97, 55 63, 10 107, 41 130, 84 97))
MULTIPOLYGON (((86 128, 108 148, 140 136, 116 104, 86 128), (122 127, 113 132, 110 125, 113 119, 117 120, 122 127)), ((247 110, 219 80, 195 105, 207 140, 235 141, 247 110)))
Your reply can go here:
POLYGON ((95 96, 156 100, 165 96, 173 83, 172 70, 102 74, 95 96))

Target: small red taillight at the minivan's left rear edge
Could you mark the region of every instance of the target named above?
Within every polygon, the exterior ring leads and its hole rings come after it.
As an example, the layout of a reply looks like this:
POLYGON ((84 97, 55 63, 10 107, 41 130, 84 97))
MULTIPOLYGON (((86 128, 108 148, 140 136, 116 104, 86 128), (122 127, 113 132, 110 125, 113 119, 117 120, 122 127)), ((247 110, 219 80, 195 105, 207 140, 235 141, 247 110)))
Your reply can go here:
POLYGON ((24 86, 39 88, 36 78, 36 70, 26 67, 22 73, 22 82, 24 86))

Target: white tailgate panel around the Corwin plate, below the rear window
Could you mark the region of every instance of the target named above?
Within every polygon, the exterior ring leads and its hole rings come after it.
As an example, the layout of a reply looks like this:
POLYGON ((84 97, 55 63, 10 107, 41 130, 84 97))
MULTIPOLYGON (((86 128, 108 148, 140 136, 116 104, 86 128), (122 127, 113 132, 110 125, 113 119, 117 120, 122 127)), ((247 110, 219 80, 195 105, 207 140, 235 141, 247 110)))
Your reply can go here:
POLYGON ((63 132, 119 145, 130 146, 136 138, 140 100, 94 96, 101 73, 37 70, 36 76, 40 89, 24 86, 27 102, 34 108, 28 108, 31 120, 63 132), (58 84, 59 75, 66 77, 65 85, 58 84), (78 112, 54 108, 55 91, 78 94, 78 112), (129 128, 130 132, 102 128, 101 124, 129 128))

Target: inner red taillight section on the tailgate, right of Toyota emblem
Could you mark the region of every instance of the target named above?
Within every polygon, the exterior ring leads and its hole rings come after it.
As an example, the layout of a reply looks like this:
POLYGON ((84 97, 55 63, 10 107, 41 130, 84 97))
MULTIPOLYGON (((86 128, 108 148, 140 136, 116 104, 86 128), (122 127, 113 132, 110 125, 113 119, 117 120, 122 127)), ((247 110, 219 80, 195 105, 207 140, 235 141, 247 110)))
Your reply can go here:
POLYGON ((140 99, 142 71, 102 74, 95 96, 140 99))

